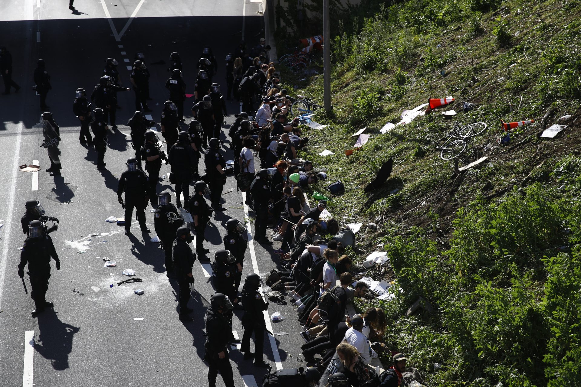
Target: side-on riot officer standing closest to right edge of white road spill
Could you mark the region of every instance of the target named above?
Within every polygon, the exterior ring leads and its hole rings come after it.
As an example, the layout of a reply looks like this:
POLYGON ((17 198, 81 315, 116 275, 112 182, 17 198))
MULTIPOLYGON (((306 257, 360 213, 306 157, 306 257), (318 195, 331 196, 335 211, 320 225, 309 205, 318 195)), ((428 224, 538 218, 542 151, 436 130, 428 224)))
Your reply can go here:
POLYGON ((189 244, 193 241, 193 236, 189 232, 189 227, 182 226, 175 233, 175 240, 172 247, 172 259, 175 278, 180 285, 178 291, 178 303, 180 304, 180 320, 192 321, 188 316, 193 309, 188 308, 190 292, 193 290, 193 263, 196 262, 196 255, 193 254, 189 244))

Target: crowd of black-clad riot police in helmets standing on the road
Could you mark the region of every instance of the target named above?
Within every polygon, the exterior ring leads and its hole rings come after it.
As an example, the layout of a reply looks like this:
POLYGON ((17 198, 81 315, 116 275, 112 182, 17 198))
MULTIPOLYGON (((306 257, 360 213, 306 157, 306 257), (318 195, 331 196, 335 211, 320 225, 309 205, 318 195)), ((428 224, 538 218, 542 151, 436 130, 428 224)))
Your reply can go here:
MULTIPOLYGON (((229 55, 231 57, 231 55, 229 55)), ((106 166, 105 152, 107 149, 107 133, 110 124, 117 130, 116 111, 117 92, 130 91, 120 85, 117 61, 107 58, 103 75, 98 85, 91 92, 90 100, 84 88, 78 88, 73 102, 73 113, 80 121, 79 142, 94 146, 97 153, 98 169, 106 166), (108 124, 107 124, 108 123, 108 124), (89 131, 89 126, 91 131, 89 131), (92 135, 91 135, 92 132, 92 135)), ((149 233, 146 226, 145 209, 148 202, 154 206, 154 225, 160 244, 163 249, 166 275, 171 281, 177 281, 179 287, 178 303, 179 318, 182 321, 192 321, 188 308, 188 301, 193 291, 192 267, 199 259, 208 259, 209 249, 203 247, 206 227, 210 225, 213 212, 224 211, 220 204, 223 187, 226 181, 226 162, 221 150, 220 132, 227 116, 224 97, 220 92, 220 85, 211 82, 216 72, 216 58, 211 49, 206 47, 196 67, 198 77, 195 84, 196 102, 192 106, 193 120, 189 122, 188 131, 181 131, 180 122, 184 121, 184 101, 186 85, 182 79, 182 63, 177 52, 170 55, 170 78, 166 88, 170 99, 164 103, 160 117, 160 128, 166 140, 166 151, 157 133, 150 128, 156 125, 155 121, 148 120, 144 111, 150 111, 147 101, 149 98, 149 71, 142 60, 136 60, 131 72, 132 90, 135 92, 135 113, 127 122, 131 128, 131 143, 135 151, 134 157, 127 160, 127 171, 123 172, 117 187, 117 197, 125 210, 125 234, 131 233, 131 220, 135 210, 142 233, 149 233), (203 150, 205 149, 205 151, 203 150), (205 164, 205 174, 199 173, 199 159, 205 164), (177 196, 176 205, 171 202, 171 191, 164 190, 157 194, 157 183, 162 162, 170 165, 170 183, 175 185, 177 196), (190 196, 190 183, 193 192, 190 196), (210 198, 210 204, 206 201, 210 198), (188 210, 193 222, 189 225, 184 222, 180 214, 182 208, 181 197, 184 198, 183 209, 188 210), (190 245, 193 241, 191 229, 196 233, 196 252, 190 245)), ((231 64, 231 63, 229 63, 231 64)), ((50 76, 45 69, 44 60, 38 60, 35 71, 37 92, 41 95, 41 108, 48 110, 45 98, 51 88, 50 76)), ((232 88, 228 82, 229 91, 232 88)), ((245 116, 248 118, 248 116, 245 116)), ((42 114, 46 148, 51 159, 51 168, 47 169, 55 175, 60 174, 58 158, 59 126, 52 114, 48 111, 42 114), (55 139, 51 142, 52 139, 55 139), (56 151, 55 151, 56 149, 56 151)), ((266 172, 266 169, 263 171, 266 172)), ((260 173, 257 179, 266 179, 260 173)), ((260 190, 266 187, 261 183, 254 185, 255 207, 257 210, 257 235, 266 238, 266 219, 264 213, 267 201, 263 200, 260 190)), ((51 258, 56 262, 56 269, 60 269, 60 261, 52 242, 50 233, 58 230, 59 220, 45 215, 44 208, 37 200, 26 202, 26 213, 21 218, 21 225, 26 241, 21 249, 21 258, 18 265, 18 274, 24 277, 24 269, 28 265, 27 274, 30 276, 31 298, 35 309, 33 317, 42 313, 46 308, 52 308, 53 303, 45 299, 48 290, 48 281, 51 277, 51 258)), ((241 351, 245 359, 254 359, 259 367, 268 367, 263 360, 264 310, 268 303, 264 301, 258 274, 246 275, 245 283, 239 296, 239 287, 242 281, 243 261, 248 247, 246 227, 238 219, 229 219, 226 222, 227 234, 224 236, 224 249, 214 254, 213 285, 216 293, 211 296, 210 308, 206 314, 205 361, 209 364, 209 384, 216 385, 218 372, 224 379, 227 387, 234 386, 232 367, 228 359, 227 345, 241 341, 232 335, 232 309, 244 310, 242 325, 244 334, 241 351), (242 304, 242 305, 241 305, 242 304), (250 352, 250 337, 254 334, 255 349, 250 352)), ((24 283, 26 289, 26 284, 24 283)))

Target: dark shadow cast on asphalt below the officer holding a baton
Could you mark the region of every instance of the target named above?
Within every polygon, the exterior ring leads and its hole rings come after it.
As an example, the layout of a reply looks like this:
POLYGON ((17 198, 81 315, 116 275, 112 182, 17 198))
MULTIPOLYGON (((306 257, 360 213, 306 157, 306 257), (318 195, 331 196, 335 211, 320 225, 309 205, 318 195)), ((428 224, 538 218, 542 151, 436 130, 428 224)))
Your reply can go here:
POLYGON ((55 370, 66 370, 69 368, 69 353, 73 349, 73 335, 79 330, 79 327, 60 321, 54 310, 47 309, 38 316, 40 334, 34 349, 45 359, 51 360, 55 370))

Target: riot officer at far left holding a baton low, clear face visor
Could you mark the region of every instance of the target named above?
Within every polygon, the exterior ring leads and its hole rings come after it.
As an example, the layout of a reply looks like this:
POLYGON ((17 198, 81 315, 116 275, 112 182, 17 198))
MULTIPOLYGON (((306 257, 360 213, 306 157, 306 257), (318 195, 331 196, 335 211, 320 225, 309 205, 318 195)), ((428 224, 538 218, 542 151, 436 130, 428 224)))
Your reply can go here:
POLYGON ((56 254, 55 245, 51 237, 42 230, 40 220, 33 220, 28 225, 28 237, 22 246, 18 276, 24 277, 24 266, 28 263, 28 274, 34 300, 35 309, 33 317, 41 313, 46 307, 52 308, 52 302, 46 302, 48 279, 51 277, 51 257, 56 262, 56 270, 60 270, 59 256, 56 254))

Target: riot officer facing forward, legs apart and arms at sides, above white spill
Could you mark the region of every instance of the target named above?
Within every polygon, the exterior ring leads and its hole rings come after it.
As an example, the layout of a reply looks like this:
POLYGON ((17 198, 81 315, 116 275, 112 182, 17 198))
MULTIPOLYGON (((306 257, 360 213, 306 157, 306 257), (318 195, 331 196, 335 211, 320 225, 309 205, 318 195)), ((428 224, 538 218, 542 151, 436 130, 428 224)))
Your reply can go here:
POLYGON ((141 231, 149 233, 149 229, 145 225, 145 207, 147 207, 149 188, 147 176, 144 171, 137 168, 137 160, 135 158, 128 158, 126 164, 127 171, 121 173, 119 185, 117 185, 119 204, 125 208, 125 235, 131 233, 133 208, 137 212, 137 220, 139 220, 141 231), (123 202, 123 198, 121 197, 123 193, 125 193, 125 202, 123 202))

